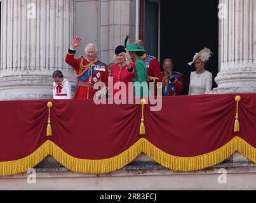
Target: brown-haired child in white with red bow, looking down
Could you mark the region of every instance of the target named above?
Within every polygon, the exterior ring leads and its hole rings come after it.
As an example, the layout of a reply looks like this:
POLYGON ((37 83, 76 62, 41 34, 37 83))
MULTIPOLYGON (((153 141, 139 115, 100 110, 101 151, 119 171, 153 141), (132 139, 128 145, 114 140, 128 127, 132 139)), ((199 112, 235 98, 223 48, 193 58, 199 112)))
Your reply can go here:
POLYGON ((53 99, 71 99, 71 83, 64 78, 60 70, 53 72, 53 99))

